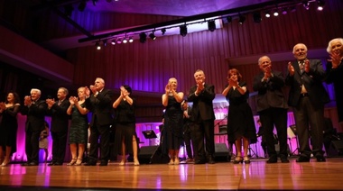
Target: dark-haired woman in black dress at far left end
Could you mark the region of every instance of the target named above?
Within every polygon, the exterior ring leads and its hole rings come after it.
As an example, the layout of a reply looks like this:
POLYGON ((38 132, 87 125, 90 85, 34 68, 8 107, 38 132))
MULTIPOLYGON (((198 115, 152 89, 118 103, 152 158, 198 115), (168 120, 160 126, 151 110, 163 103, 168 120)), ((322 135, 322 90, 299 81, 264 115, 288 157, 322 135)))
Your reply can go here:
POLYGON ((5 167, 10 162, 10 156, 16 151, 16 132, 18 121, 16 115, 20 109, 20 98, 17 93, 10 92, 7 101, 0 103, 0 164, 5 167), (5 157, 5 158, 4 158, 5 157))

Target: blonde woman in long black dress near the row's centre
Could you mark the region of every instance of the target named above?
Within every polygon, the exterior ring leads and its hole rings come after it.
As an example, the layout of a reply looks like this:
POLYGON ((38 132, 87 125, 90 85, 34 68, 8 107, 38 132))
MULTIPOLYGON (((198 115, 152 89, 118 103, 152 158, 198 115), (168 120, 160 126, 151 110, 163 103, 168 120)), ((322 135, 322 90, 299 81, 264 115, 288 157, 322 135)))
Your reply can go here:
POLYGON ((162 105, 166 106, 164 114, 164 131, 171 157, 170 165, 180 164, 179 150, 182 142, 183 111, 181 102, 183 93, 176 92, 178 81, 175 77, 169 79, 165 86, 165 94, 162 95, 162 105))

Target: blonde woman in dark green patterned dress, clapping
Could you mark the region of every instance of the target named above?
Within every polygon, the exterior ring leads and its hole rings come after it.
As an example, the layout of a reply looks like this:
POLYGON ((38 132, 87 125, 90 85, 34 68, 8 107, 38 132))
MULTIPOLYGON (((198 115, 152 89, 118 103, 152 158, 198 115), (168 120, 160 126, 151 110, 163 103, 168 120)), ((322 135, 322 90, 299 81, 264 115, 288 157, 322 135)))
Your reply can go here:
POLYGON ((70 96, 70 107, 67 114, 71 115, 70 123, 70 152, 71 161, 68 166, 81 165, 88 142, 88 109, 86 108, 85 87, 78 89, 78 97, 70 96), (79 150, 79 153, 78 153, 79 150))

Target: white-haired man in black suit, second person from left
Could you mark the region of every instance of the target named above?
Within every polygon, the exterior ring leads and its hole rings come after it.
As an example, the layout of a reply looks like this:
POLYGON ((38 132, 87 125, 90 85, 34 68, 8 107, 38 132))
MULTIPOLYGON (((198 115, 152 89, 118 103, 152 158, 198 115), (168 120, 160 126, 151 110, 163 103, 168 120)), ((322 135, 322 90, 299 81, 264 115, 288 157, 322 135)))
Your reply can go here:
POLYGON ((37 166, 39 162, 39 138, 42 130, 45 129, 45 114, 48 106, 41 98, 41 90, 32 88, 31 96, 25 96, 23 101, 22 114, 26 115, 25 123, 25 152, 27 162, 23 166, 37 166))

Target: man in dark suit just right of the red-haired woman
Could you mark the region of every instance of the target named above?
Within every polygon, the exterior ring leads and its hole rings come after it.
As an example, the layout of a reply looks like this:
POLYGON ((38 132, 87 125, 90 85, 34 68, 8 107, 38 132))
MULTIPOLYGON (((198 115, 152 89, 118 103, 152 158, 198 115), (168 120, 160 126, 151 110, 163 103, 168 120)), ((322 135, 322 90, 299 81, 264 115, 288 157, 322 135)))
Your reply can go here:
POLYGON ((272 60, 263 56, 258 59, 261 72, 254 77, 253 88, 258 91, 257 112, 261 123, 264 124, 264 137, 267 144, 269 159, 267 163, 276 163, 277 155, 273 138, 275 125, 280 142, 281 162, 290 162, 287 159, 287 110, 286 99, 283 96, 283 73, 272 69, 272 60))

